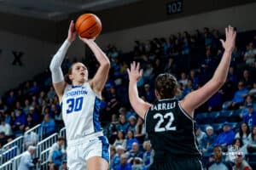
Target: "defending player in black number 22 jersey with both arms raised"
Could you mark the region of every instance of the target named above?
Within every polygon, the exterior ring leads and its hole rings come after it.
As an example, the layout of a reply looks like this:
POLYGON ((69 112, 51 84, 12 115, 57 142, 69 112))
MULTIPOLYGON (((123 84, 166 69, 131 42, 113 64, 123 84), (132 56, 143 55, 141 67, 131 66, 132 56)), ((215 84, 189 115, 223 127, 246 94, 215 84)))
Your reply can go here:
POLYGON ((137 81, 143 75, 139 64, 133 62, 131 69, 127 70, 131 105, 144 118, 148 139, 155 150, 150 170, 202 169, 201 152, 195 139, 194 110, 215 94, 226 80, 235 47, 236 31, 229 26, 225 29, 225 35, 226 41, 220 40, 224 54, 212 79, 180 101, 175 99, 177 80, 171 74, 156 77, 157 100, 148 104, 139 98, 137 92, 137 81))

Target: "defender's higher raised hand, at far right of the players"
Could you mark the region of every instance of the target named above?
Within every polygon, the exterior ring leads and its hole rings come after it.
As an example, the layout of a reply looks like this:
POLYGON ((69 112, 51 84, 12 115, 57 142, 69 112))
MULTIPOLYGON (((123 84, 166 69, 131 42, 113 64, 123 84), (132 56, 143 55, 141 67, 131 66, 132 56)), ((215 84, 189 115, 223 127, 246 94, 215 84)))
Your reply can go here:
POLYGON ((222 46, 226 51, 232 52, 235 48, 235 43, 236 43, 236 31, 232 26, 228 26, 225 29, 225 32, 226 32, 226 41, 224 42, 224 40, 221 39, 220 42, 222 43, 222 46))

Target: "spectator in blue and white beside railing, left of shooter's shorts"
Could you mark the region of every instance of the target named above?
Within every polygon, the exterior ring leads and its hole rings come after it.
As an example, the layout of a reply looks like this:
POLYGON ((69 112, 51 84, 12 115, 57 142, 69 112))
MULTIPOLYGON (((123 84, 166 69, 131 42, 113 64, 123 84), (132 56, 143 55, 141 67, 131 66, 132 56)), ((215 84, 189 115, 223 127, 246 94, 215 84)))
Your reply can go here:
POLYGON ((66 153, 64 143, 65 139, 60 136, 58 141, 49 150, 48 162, 54 163, 57 167, 61 166, 62 156, 66 153))

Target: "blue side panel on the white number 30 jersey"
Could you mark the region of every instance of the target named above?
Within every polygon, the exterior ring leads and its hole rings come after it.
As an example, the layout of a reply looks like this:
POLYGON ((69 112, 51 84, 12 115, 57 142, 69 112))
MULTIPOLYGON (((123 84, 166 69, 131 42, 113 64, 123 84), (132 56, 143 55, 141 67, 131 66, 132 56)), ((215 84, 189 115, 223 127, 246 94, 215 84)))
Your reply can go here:
POLYGON ((95 133, 102 131, 101 123, 99 121, 101 103, 102 103, 101 99, 98 99, 98 98, 95 99, 95 104, 93 108, 93 127, 94 127, 95 133))

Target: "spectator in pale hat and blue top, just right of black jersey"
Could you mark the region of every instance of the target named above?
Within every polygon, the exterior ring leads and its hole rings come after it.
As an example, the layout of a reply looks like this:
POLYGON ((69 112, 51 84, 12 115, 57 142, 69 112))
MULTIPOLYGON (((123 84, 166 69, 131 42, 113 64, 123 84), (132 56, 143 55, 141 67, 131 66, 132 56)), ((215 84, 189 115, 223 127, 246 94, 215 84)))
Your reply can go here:
POLYGON ((213 133, 213 127, 206 127, 207 135, 201 140, 200 148, 204 155, 208 156, 213 151, 214 140, 216 139, 216 134, 213 133))

